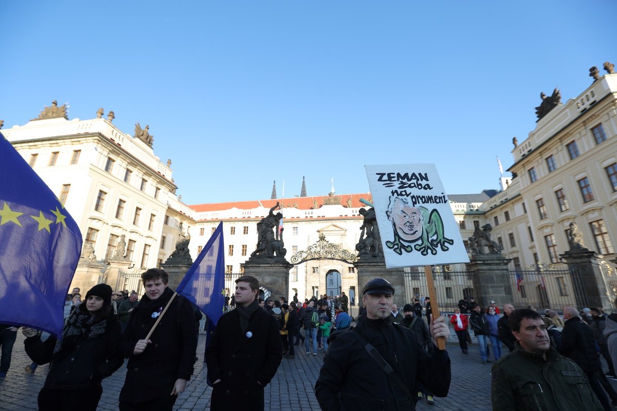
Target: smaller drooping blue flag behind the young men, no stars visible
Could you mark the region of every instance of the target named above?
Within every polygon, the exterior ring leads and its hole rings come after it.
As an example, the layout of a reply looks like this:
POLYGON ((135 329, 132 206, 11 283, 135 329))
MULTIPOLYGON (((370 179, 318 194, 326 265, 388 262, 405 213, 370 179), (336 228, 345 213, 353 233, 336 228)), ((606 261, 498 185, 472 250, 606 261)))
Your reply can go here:
POLYGON ((225 306, 224 247, 223 222, 220 222, 176 288, 176 292, 199 307, 213 325, 217 325, 225 306))

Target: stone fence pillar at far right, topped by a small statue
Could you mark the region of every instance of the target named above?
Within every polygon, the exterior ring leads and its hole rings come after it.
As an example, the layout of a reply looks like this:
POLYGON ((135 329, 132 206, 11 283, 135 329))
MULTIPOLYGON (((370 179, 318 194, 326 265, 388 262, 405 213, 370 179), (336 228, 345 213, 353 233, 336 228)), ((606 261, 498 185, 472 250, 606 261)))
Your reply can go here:
POLYGON ((574 287, 577 309, 584 307, 600 307, 612 311, 613 304, 607 283, 600 269, 602 260, 594 251, 587 248, 569 250, 560 257, 565 259, 571 269, 570 277, 574 287))

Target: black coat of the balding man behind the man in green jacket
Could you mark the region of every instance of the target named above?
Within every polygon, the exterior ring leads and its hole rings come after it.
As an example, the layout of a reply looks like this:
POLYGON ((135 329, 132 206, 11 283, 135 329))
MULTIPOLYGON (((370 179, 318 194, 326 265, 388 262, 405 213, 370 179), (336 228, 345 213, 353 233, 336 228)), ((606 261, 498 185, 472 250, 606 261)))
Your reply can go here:
POLYGON ((594 332, 580 317, 570 317, 561 331, 559 353, 578 364, 584 372, 600 370, 600 358, 595 350, 594 332))

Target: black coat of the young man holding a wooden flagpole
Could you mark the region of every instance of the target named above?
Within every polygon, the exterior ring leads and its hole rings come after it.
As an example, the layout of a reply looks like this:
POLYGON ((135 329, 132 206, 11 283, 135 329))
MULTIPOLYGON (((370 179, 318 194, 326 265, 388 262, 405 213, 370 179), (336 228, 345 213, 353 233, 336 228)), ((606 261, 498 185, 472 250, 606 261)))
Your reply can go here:
POLYGON ((131 312, 119 344, 128 358, 126 380, 120 391, 122 402, 145 402, 169 395, 178 378, 189 380, 193 374, 197 332, 193 308, 183 296, 173 299, 146 350, 133 354, 137 341, 146 338, 156 322, 152 313, 162 311, 172 296, 170 288, 154 301, 144 295, 131 312))

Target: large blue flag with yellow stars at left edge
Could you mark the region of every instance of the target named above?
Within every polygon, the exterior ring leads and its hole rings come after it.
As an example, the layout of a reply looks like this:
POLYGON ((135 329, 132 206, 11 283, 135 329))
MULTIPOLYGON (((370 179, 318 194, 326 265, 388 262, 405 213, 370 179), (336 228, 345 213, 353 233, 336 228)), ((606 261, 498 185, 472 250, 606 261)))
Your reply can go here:
POLYGON ((81 251, 77 223, 0 134, 0 324, 59 336, 81 251))

